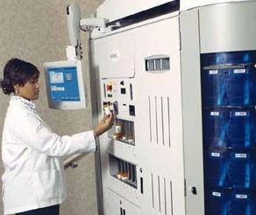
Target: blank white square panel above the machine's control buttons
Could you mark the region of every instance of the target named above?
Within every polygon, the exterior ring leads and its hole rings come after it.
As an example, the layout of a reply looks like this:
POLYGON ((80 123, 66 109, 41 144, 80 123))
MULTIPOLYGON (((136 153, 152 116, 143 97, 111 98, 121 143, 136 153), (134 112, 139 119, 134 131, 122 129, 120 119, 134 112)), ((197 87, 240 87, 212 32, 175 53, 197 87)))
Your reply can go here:
POLYGON ((96 67, 101 78, 134 76, 132 31, 95 40, 96 67))

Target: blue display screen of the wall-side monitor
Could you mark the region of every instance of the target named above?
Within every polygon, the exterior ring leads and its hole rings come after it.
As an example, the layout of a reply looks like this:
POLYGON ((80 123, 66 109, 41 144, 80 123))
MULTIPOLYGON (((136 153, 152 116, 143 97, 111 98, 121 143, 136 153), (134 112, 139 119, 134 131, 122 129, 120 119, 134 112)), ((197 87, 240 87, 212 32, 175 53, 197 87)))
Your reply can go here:
POLYGON ((80 101, 76 66, 47 69, 52 101, 80 101))

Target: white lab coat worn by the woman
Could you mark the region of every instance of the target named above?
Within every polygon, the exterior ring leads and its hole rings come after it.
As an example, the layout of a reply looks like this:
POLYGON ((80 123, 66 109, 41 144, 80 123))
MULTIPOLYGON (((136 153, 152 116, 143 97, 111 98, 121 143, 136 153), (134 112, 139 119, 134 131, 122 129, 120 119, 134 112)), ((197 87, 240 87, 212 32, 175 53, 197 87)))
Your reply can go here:
POLYGON ((93 131, 76 135, 53 133, 35 105, 11 96, 4 121, 4 214, 58 205, 66 198, 61 156, 96 150, 93 131))

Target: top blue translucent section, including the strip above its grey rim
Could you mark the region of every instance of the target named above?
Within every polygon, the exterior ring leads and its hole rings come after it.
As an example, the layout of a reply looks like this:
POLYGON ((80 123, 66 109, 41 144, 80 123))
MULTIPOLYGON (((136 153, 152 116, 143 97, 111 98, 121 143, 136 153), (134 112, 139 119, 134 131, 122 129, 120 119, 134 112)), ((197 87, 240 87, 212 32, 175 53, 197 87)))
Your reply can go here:
POLYGON ((203 106, 256 105, 256 52, 201 55, 203 106))

